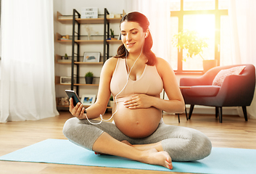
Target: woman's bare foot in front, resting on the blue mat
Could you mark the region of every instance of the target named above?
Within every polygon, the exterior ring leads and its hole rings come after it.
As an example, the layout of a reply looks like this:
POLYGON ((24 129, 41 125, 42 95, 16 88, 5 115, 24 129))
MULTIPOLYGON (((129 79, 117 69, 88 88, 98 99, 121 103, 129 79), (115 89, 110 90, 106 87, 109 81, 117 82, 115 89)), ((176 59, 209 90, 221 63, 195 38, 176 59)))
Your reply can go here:
POLYGON ((158 152, 157 149, 144 151, 144 157, 142 158, 141 162, 150 165, 162 165, 163 167, 173 169, 172 159, 170 158, 168 152, 158 152))

